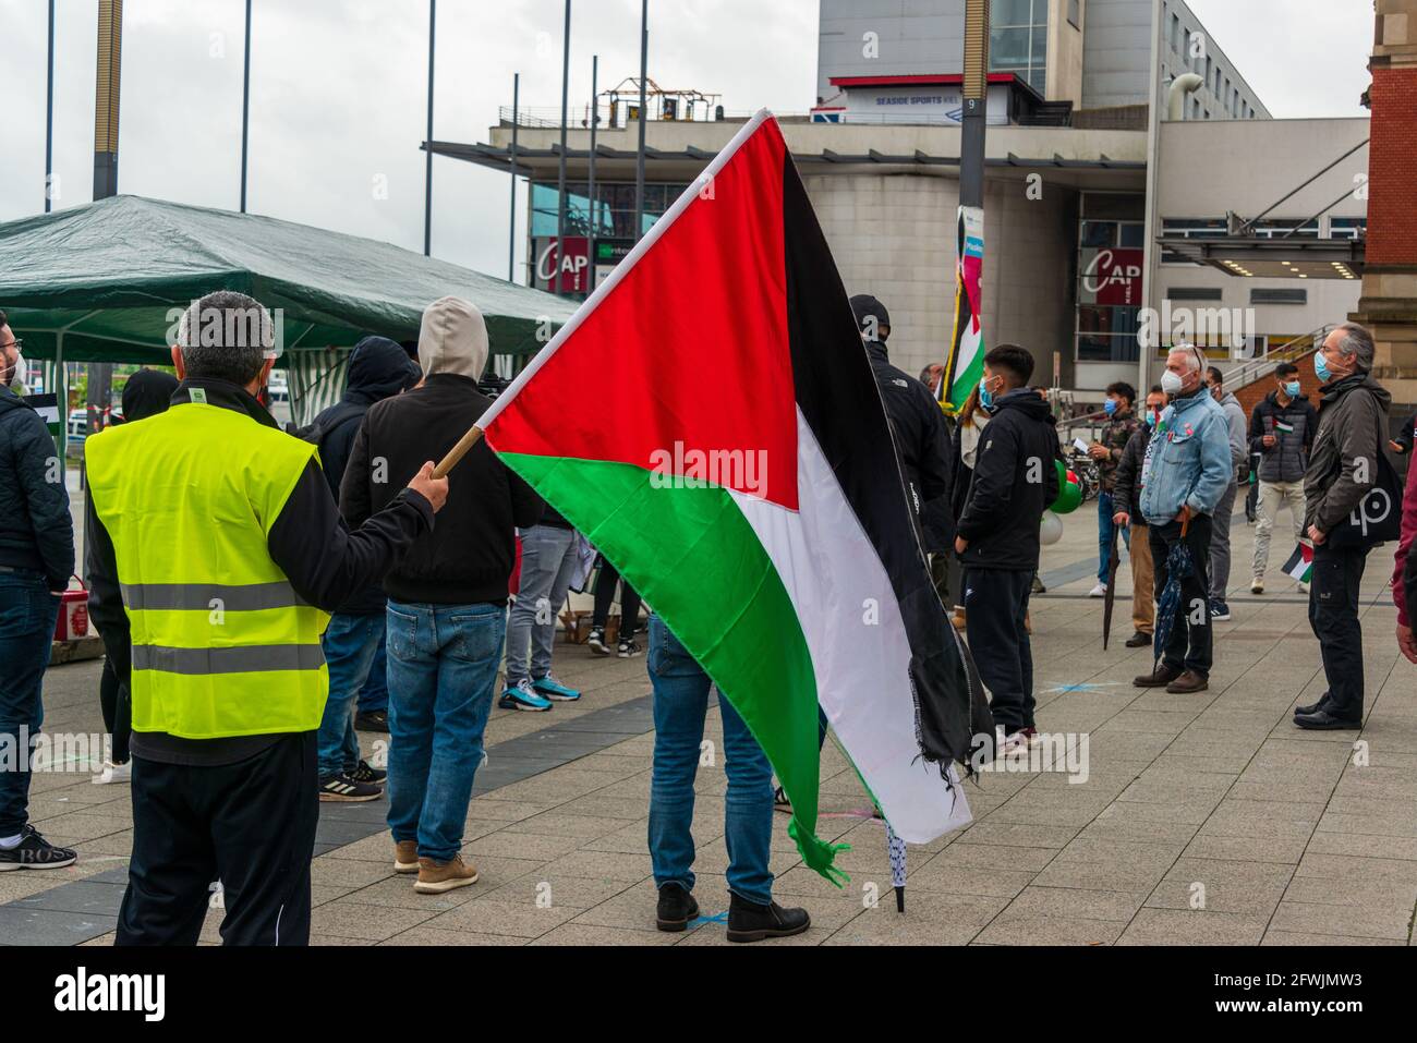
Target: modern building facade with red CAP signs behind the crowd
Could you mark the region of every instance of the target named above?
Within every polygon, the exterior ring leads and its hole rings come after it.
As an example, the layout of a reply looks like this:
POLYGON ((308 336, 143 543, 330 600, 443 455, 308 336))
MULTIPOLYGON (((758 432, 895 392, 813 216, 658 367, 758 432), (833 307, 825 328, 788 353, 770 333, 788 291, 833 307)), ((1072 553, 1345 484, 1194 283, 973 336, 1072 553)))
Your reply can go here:
MULTIPOLYGON (((822 0, 819 103, 779 115, 849 292, 887 303, 893 359, 913 371, 944 360, 954 322, 964 7, 822 0)), ((1097 401, 1114 380, 1149 383, 1173 340, 1233 367, 1356 308, 1367 119, 1272 119, 1180 0, 995 0, 992 14, 986 344, 1023 344, 1036 383, 1097 401), (1263 265, 1214 255, 1238 232, 1264 241, 1263 265)), ((594 218, 589 133, 570 132, 563 261, 560 129, 519 129, 537 286, 584 295, 633 244, 638 135, 608 122, 594 218)), ((646 222, 740 123, 650 119, 646 222)), ((485 143, 429 147, 507 170, 510 140, 503 120, 485 143)))

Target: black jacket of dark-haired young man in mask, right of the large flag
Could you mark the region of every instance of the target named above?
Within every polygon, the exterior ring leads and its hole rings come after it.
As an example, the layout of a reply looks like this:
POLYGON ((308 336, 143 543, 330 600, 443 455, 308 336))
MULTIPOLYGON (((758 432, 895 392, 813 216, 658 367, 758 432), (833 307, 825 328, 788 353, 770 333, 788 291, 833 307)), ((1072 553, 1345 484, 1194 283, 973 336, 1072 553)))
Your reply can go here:
POLYGON ((966 568, 1032 573, 1039 567, 1039 524, 1057 499, 1057 429, 1033 388, 998 400, 981 435, 969 496, 959 514, 966 568))

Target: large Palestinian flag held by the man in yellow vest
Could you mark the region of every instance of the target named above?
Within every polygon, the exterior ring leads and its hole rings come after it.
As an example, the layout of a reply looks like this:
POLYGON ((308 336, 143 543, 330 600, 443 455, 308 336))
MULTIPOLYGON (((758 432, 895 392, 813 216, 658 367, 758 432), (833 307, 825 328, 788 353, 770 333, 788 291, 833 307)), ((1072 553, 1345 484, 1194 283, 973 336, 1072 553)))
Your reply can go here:
POLYGON ((903 839, 969 821, 954 767, 972 733, 962 645, 771 115, 740 130, 478 425, 738 710, 809 866, 836 872, 815 836, 819 703, 903 839))

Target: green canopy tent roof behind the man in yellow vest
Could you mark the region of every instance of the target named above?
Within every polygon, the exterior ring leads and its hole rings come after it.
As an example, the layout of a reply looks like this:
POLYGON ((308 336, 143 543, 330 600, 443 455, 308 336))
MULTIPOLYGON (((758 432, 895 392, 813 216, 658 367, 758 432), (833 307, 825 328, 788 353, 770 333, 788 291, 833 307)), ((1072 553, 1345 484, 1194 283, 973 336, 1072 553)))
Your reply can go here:
POLYGON ((536 353, 575 308, 387 242, 140 196, 0 224, 0 309, 31 360, 170 364, 174 315, 230 289, 279 309, 278 366, 302 377, 293 394, 334 374, 320 400, 337 398, 360 337, 415 340, 438 298, 475 303, 493 356, 512 359, 536 353))

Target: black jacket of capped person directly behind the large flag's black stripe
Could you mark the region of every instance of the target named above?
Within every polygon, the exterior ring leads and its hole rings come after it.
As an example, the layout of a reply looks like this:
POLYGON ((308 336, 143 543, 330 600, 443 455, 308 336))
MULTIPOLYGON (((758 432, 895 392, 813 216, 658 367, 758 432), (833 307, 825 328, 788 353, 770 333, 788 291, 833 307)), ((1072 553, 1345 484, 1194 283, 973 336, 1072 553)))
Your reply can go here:
POLYGON ((925 527, 925 548, 942 550, 948 547, 945 540, 954 529, 954 513, 949 509, 951 439, 945 414, 930 388, 890 364, 883 343, 864 343, 886 405, 886 417, 896 435, 905 480, 910 483, 910 499, 925 527))

